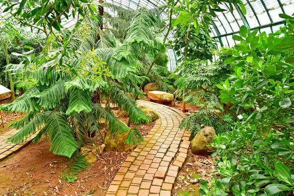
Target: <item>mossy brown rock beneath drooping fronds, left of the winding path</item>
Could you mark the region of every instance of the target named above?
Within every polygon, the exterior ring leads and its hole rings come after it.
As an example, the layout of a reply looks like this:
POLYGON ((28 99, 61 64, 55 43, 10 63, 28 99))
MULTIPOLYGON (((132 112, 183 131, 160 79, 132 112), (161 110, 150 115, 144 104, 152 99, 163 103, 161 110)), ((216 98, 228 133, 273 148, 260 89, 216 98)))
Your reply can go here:
POLYGON ((105 150, 106 151, 128 151, 135 146, 129 146, 124 144, 129 131, 123 132, 119 134, 118 132, 115 135, 112 135, 111 131, 107 131, 106 136, 104 138, 105 150))

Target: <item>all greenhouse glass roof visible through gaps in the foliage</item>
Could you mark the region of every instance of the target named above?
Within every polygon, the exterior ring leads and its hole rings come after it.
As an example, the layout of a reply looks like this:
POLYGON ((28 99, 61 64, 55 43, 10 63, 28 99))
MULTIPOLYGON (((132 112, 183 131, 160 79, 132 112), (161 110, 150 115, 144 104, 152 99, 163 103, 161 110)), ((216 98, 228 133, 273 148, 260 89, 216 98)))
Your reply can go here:
MULTIPOLYGON (((258 29, 259 32, 275 32, 280 26, 285 25, 285 21, 279 17, 279 14, 285 13, 292 15, 294 12, 294 0, 242 0, 246 15, 241 11, 238 5, 235 5, 233 13, 230 11, 218 12, 217 17, 211 25, 211 37, 218 39, 218 46, 231 47, 235 43, 232 39, 234 34, 238 34, 240 26, 245 25, 251 30, 258 29)), ((140 7, 148 9, 159 7, 166 4, 165 0, 106 0, 122 6, 126 9, 137 10, 140 7)), ((221 8, 228 10, 226 4, 221 8)), ((163 18, 167 17, 166 13, 162 14, 163 18)), ((168 37, 172 40, 172 35, 168 37)), ((172 49, 169 49, 170 69, 176 66, 176 56, 172 49)))

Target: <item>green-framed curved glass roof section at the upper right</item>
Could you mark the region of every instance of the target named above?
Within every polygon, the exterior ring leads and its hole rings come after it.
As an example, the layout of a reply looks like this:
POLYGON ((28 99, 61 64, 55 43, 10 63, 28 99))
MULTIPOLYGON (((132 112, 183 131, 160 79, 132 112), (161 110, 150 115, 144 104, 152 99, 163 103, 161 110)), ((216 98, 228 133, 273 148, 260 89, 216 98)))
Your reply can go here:
MULTIPOLYGON (((245 25, 251 30, 258 29, 259 33, 266 31, 273 33, 280 26, 285 25, 285 21, 279 17, 284 13, 292 15, 294 13, 294 0, 242 0, 246 8, 246 15, 241 11, 239 5, 235 5, 233 14, 230 11, 217 13, 211 28, 211 36, 217 38, 219 47, 230 47, 235 44, 232 36, 239 33, 234 23, 238 26, 245 25), (233 18, 232 18, 232 16, 233 18)), ((221 8, 227 9, 221 5, 221 8)))

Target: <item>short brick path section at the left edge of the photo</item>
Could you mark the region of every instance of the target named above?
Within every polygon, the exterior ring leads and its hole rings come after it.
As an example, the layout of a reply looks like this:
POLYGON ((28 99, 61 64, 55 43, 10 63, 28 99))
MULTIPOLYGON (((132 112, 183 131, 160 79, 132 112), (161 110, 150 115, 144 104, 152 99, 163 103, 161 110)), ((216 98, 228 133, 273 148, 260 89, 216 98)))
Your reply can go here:
POLYGON ((27 140, 22 144, 16 145, 10 142, 6 143, 6 140, 10 138, 11 136, 15 135, 17 132, 18 130, 12 129, 0 136, 0 160, 5 159, 9 155, 13 154, 14 152, 18 151, 20 148, 27 145, 37 135, 37 133, 32 135, 30 138, 27 138, 27 140))

